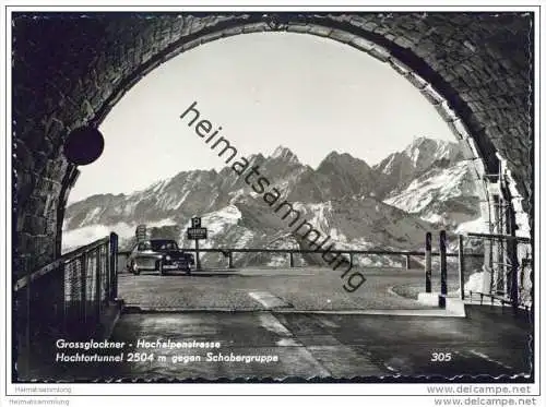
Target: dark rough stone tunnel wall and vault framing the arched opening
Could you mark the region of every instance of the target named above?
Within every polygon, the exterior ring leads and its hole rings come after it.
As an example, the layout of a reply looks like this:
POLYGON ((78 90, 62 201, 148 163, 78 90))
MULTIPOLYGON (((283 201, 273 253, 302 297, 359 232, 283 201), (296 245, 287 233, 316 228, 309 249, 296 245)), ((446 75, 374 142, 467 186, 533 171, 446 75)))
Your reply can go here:
POLYGON ((173 56, 252 32, 330 37, 410 72, 419 88, 429 84, 460 118, 452 124, 471 135, 485 171, 496 172, 496 153, 507 159, 533 219, 531 13, 21 13, 12 29, 19 273, 58 254, 59 206, 73 170, 62 155, 67 134, 98 125, 124 92, 173 56))

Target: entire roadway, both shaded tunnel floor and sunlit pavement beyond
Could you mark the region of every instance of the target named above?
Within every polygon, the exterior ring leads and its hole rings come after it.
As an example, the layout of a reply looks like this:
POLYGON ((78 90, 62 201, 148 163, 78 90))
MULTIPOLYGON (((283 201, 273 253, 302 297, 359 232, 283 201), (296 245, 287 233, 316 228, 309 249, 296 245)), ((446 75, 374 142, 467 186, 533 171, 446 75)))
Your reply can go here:
POLYGON ((424 284, 420 270, 367 270, 366 278, 348 294, 321 268, 120 274, 126 307, 109 340, 124 345, 100 355, 122 360, 57 362, 48 378, 530 380, 525 321, 479 306, 467 308, 466 318, 441 316, 392 292, 394 285, 424 284), (385 312, 367 313, 379 309, 385 312))

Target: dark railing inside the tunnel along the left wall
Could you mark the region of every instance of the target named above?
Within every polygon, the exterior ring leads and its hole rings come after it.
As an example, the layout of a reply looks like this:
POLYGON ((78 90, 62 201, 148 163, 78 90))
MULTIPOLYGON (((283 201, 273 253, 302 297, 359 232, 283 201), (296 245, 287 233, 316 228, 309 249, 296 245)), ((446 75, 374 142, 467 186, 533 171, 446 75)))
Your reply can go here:
POLYGON ((19 355, 58 338, 95 337, 117 297, 118 236, 94 241, 20 278, 13 286, 19 355))

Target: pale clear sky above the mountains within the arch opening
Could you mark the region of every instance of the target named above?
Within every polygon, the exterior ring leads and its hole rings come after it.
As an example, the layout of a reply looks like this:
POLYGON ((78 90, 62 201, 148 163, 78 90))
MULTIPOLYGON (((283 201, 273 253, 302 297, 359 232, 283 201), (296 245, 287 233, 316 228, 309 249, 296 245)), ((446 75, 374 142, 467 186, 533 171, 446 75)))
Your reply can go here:
POLYGON ((237 35, 186 51, 134 85, 99 127, 104 153, 79 167, 69 202, 224 167, 180 119, 193 101, 239 156, 283 145, 312 167, 332 151, 373 165, 417 136, 455 141, 407 80, 366 52, 306 34, 237 35))

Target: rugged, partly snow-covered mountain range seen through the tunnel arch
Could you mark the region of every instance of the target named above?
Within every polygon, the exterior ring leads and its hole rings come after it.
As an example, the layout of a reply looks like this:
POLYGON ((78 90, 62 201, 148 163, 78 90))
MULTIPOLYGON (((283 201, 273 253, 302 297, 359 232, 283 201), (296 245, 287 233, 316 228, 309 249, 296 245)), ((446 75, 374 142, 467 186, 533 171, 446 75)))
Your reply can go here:
MULTIPOLYGON (((330 153, 317 169, 301 164, 286 147, 270 157, 248 157, 301 219, 309 222, 336 249, 415 250, 427 230, 454 230, 479 223, 476 187, 468 165, 454 143, 419 137, 399 153, 370 167, 349 154, 330 153)), ((209 228, 204 248, 300 248, 289 218, 275 213, 244 177, 228 167, 221 171, 183 171, 132 194, 100 194, 67 208, 64 250, 107 235, 120 235, 130 246, 138 224, 155 236, 171 237, 182 246, 192 216, 209 228)), ((360 260, 363 264, 396 264, 403 259, 360 260)), ((203 264, 225 262, 206 254, 203 264)), ((236 265, 280 265, 284 254, 238 254, 236 265)), ((299 263, 312 263, 301 256, 299 263)))

